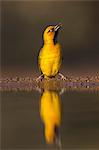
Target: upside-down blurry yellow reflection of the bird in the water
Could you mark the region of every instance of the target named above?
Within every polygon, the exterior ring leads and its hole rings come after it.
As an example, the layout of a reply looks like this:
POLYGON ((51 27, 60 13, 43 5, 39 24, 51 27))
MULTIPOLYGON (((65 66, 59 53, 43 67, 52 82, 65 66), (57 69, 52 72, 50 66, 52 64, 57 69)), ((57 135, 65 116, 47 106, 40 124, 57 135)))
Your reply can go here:
POLYGON ((40 116, 44 124, 44 136, 48 144, 61 146, 59 127, 61 124, 60 95, 44 89, 40 101, 40 116))

